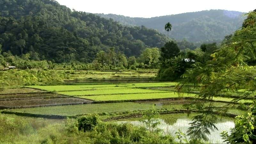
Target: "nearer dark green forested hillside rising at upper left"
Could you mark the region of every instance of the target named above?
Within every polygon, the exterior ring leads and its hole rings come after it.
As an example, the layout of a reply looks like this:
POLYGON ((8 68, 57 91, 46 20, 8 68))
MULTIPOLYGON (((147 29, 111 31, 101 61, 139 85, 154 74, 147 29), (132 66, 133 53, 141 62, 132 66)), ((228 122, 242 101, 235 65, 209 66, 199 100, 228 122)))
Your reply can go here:
POLYGON ((167 41, 156 30, 123 26, 54 0, 0 0, 0 10, 0 52, 29 53, 32 60, 92 62, 97 52, 112 47, 139 56, 167 41))

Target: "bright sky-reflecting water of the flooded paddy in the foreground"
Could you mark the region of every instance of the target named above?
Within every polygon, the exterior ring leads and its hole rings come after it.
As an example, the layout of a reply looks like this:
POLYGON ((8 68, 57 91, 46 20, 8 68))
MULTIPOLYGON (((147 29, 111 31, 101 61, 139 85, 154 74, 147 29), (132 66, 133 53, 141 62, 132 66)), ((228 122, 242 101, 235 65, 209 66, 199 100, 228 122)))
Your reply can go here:
MULTIPOLYGON (((188 128, 190 127, 189 123, 192 122, 190 119, 182 118, 178 119, 176 123, 174 124, 167 124, 164 122, 163 119, 159 119, 160 124, 158 125, 158 128, 163 130, 164 134, 171 134, 172 136, 175 137, 175 132, 177 132, 179 129, 182 132, 186 132, 188 128)), ((131 123, 133 125, 137 126, 145 126, 145 124, 139 122, 139 121, 119 121, 117 123, 131 123)), ((210 135, 208 135, 208 139, 210 143, 224 143, 223 140, 220 137, 220 132, 222 131, 228 131, 230 128, 233 128, 235 126, 233 121, 224 121, 224 122, 219 122, 215 124, 215 126, 218 128, 218 131, 211 132, 210 135)), ((230 134, 230 133, 229 133, 230 134)), ((176 139, 178 141, 178 139, 176 139)))

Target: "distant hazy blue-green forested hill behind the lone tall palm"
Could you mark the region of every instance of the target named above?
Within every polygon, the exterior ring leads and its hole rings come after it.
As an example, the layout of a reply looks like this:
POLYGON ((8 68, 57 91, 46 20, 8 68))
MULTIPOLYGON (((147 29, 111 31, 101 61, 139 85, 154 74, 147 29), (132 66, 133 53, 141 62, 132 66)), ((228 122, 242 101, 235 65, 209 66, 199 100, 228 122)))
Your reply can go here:
POLYGON ((115 14, 98 15, 119 21, 124 25, 143 25, 147 28, 157 29, 163 34, 167 34, 163 25, 170 22, 172 24, 172 30, 169 33, 171 38, 177 40, 185 38, 189 42, 198 44, 220 42, 224 36, 241 28, 245 19, 242 12, 226 10, 188 12, 153 18, 131 18, 115 14))

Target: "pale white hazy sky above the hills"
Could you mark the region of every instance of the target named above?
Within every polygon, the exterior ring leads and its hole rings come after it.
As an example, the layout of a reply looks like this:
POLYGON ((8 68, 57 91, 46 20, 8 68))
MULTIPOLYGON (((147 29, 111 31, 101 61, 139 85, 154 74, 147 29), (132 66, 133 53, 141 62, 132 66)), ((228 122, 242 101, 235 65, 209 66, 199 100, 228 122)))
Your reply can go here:
POLYGON ((113 13, 130 17, 156 17, 210 9, 249 12, 256 0, 57 0, 76 11, 113 13))

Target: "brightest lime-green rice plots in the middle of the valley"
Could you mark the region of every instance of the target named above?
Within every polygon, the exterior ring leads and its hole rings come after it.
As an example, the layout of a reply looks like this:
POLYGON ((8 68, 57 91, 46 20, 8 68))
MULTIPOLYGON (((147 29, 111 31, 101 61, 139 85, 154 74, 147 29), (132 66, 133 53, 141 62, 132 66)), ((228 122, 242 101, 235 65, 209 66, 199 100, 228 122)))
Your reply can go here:
MULTIPOLYGON (((55 86, 29 86, 45 91, 56 91, 58 94, 76 96, 93 101, 114 101, 114 100, 148 100, 165 99, 178 97, 196 98, 196 94, 170 92, 175 90, 177 82, 158 83, 84 83, 55 86), (171 86, 171 87, 169 87, 171 86), (156 87, 156 89, 152 89, 156 87), (160 88, 158 88, 160 87, 160 88), (146 89, 145 89, 146 88, 146 89), (168 91, 169 90, 169 91, 168 91)), ((233 98, 213 97, 212 100, 230 102, 233 98)), ((252 100, 239 100, 240 103, 252 103, 252 100)))

